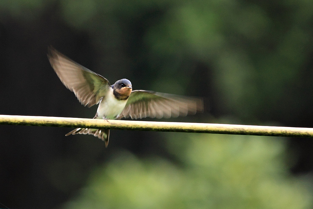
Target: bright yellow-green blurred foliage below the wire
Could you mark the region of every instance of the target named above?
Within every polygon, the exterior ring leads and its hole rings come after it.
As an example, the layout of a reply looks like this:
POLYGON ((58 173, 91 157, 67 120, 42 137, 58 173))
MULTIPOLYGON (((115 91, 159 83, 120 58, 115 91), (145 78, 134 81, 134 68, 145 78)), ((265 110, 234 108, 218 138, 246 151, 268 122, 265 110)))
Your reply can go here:
POLYGON ((88 185, 64 208, 313 206, 307 179, 292 177, 288 172, 283 140, 178 135, 179 139, 167 141, 176 165, 156 156, 138 158, 118 152, 108 164, 95 169, 88 185))

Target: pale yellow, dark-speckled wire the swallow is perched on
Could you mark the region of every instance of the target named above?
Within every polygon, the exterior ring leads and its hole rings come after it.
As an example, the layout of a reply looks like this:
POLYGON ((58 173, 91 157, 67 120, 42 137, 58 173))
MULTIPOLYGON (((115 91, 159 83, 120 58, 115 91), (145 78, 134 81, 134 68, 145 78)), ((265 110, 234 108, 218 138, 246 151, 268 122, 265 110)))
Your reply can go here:
POLYGON ((220 133, 257 136, 313 137, 313 128, 232 125, 215 123, 176 123, 127 120, 106 121, 87 118, 0 115, 0 124, 73 128, 108 128, 141 131, 220 133))

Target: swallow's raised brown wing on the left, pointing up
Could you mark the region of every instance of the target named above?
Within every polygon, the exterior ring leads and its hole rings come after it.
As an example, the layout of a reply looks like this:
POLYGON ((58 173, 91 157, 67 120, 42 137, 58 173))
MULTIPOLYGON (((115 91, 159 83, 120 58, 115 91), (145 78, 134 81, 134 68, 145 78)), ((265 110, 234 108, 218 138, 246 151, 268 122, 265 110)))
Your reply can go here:
POLYGON ((53 47, 48 48, 48 59, 64 86, 73 91, 84 106, 98 104, 111 88, 107 79, 74 62, 53 47))

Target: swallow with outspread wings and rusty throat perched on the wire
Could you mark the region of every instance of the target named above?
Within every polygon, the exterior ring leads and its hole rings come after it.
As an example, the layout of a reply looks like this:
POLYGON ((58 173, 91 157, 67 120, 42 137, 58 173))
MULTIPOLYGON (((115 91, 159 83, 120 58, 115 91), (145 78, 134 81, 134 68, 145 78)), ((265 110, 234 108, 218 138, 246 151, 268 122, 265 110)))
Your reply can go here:
MULTIPOLYGON (((48 48, 50 64, 64 86, 73 91, 84 106, 99 104, 94 119, 170 118, 203 111, 203 100, 146 90, 132 90, 131 81, 121 79, 110 85, 99 74, 69 59, 52 46, 48 48)), ((67 133, 91 134, 109 143, 110 129, 76 128, 67 133)))

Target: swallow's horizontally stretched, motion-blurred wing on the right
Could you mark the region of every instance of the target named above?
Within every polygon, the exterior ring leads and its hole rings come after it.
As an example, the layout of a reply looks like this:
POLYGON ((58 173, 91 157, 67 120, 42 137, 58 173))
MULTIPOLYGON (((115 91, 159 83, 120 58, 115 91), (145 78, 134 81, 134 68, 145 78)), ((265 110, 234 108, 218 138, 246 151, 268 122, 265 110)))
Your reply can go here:
POLYGON ((183 97, 154 91, 135 90, 131 92, 126 106, 118 119, 170 118, 203 112, 203 99, 183 97))

